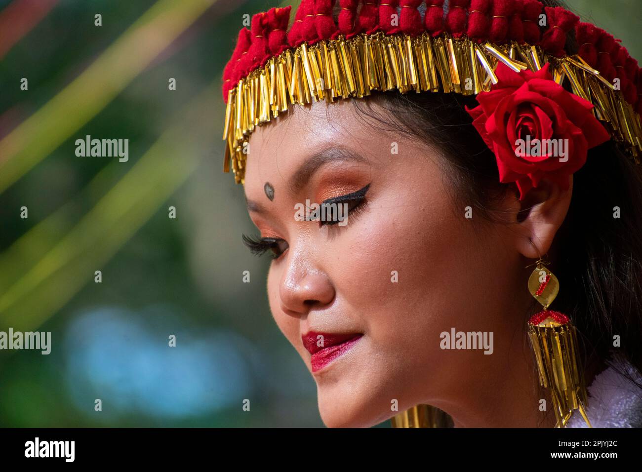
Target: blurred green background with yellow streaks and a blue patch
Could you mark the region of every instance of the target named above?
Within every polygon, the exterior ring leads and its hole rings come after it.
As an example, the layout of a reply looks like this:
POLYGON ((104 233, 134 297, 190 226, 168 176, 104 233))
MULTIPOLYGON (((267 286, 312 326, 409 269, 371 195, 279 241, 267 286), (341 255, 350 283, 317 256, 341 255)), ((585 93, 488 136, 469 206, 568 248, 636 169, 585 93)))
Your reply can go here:
MULTIPOLYGON (((0 351, 0 426, 323 425, 221 171, 223 66, 244 15, 284 4, 0 0, 0 331, 52 338, 0 351), (76 157, 85 135, 129 160, 76 157)), ((567 4, 642 57, 639 0, 567 4)))

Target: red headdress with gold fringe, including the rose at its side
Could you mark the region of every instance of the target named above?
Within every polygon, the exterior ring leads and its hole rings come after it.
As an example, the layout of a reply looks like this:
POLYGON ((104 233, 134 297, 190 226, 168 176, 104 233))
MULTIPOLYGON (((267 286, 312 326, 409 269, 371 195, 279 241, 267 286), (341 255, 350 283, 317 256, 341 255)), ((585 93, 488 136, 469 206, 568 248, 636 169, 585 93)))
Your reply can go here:
POLYGON ((503 109, 503 116, 493 118, 493 123, 505 119, 494 123, 499 127, 516 128, 502 128, 504 137, 484 131, 490 131, 490 113, 482 100, 478 110, 469 110, 498 159, 502 182, 517 182, 523 195, 543 175, 575 172, 586 161, 587 149, 609 138, 621 143, 639 163, 642 73, 638 62, 619 40, 580 22, 574 13, 544 7, 539 0, 338 0, 335 21, 335 3, 302 0, 289 31, 290 6, 257 13, 250 29, 239 32, 223 72, 227 103, 223 168, 229 171, 231 166, 236 182, 244 179, 247 139, 254 127, 293 103, 361 98, 390 90, 455 92, 480 99, 515 83, 517 75, 520 85, 532 85, 533 74, 549 81, 548 89, 539 93, 551 106, 558 99, 579 106, 573 107, 573 116, 567 116, 568 107, 562 105, 561 118, 559 109, 549 110, 558 120, 542 123, 535 112, 518 110, 523 101, 513 97, 513 109, 503 109), (579 45, 574 55, 564 49, 569 31, 575 32, 579 45), (557 85, 573 96, 563 94, 557 85), (598 122, 602 123, 599 128, 594 126, 598 122), (516 130, 523 134, 539 127, 550 127, 550 137, 564 135, 571 140, 570 159, 552 162, 534 159, 528 152, 517 153, 517 159, 508 156, 507 150, 514 153, 515 145, 503 138, 516 130))

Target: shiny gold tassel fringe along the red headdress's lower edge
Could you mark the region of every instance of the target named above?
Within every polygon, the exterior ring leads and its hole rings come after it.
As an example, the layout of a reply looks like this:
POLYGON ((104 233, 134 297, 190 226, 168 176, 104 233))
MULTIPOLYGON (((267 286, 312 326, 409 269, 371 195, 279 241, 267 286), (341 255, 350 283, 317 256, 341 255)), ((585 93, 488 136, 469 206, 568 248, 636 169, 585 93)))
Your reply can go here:
POLYGON ((498 82, 495 69, 500 62, 516 72, 537 71, 550 62, 555 81, 568 83, 574 94, 591 101, 596 118, 639 163, 640 116, 612 83, 578 55, 553 58, 528 44, 482 45, 446 33, 433 38, 428 33, 409 37, 378 31, 286 49, 230 89, 223 130, 227 141, 223 170, 231 167, 236 182, 243 183, 249 135, 257 125, 287 111, 290 104, 361 98, 373 91, 394 89, 403 93, 473 95, 488 91, 498 82))

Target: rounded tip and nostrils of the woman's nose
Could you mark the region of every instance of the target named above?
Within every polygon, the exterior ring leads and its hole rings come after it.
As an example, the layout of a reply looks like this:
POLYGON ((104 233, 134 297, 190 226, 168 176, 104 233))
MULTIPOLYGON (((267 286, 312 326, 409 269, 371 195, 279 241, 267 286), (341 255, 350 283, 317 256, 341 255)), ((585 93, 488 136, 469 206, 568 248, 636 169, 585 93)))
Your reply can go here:
POLYGON ((312 308, 329 305, 334 295, 334 286, 327 274, 314 268, 286 271, 279 286, 281 310, 295 317, 307 315, 312 308))

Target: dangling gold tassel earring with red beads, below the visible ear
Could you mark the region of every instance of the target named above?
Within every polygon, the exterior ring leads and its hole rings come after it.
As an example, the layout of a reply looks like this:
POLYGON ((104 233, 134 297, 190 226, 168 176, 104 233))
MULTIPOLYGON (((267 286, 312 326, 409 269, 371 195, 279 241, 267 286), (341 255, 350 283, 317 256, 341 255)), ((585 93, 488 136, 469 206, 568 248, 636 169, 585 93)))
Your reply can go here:
POLYGON ((593 428, 586 416, 588 402, 578 362, 575 326, 564 313, 548 310, 559 293, 559 281, 546 267, 548 262, 542 259, 537 246, 530 238, 528 241, 539 256, 528 279, 528 291, 543 307, 528 320, 528 339, 535 355, 539 383, 550 390, 557 418, 556 428, 564 428, 574 410, 579 410, 589 428, 593 428))

